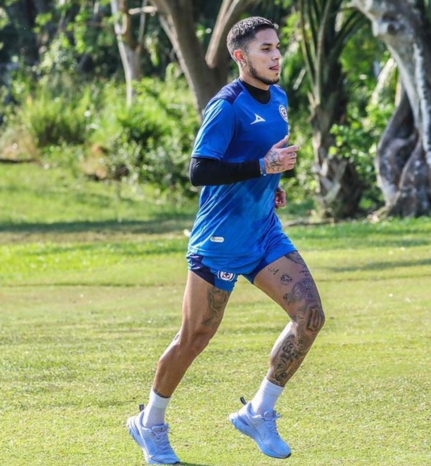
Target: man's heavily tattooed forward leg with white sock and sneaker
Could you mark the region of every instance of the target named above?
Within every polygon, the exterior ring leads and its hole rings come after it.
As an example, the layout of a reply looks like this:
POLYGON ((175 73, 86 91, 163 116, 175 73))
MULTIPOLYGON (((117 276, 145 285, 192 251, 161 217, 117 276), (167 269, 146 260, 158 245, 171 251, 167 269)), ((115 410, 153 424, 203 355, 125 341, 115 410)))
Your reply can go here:
POLYGON ((314 280, 297 252, 286 254, 261 270, 255 285, 291 317, 271 351, 270 368, 250 403, 229 416, 232 424, 252 438, 268 456, 287 458, 289 445, 275 427, 275 403, 283 387, 299 368, 317 332, 324 324, 314 280))

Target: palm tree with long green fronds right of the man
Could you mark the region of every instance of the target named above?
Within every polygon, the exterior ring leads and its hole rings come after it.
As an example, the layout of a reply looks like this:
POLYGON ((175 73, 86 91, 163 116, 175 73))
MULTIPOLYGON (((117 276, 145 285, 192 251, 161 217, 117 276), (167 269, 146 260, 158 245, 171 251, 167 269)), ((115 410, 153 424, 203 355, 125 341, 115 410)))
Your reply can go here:
POLYGON ((354 165, 330 156, 333 124, 346 117, 347 96, 340 55, 349 38, 365 24, 364 16, 342 8, 343 0, 300 0, 302 49, 310 82, 317 198, 324 215, 347 217, 357 209, 363 185, 354 165))

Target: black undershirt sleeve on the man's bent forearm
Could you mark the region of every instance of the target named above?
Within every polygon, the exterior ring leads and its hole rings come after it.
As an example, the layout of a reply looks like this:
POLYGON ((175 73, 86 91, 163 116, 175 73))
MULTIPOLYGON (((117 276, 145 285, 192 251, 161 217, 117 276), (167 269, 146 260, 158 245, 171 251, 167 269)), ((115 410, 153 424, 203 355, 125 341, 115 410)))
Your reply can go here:
POLYGON ((189 171, 193 186, 220 186, 261 176, 259 160, 229 163, 205 157, 192 157, 189 171))

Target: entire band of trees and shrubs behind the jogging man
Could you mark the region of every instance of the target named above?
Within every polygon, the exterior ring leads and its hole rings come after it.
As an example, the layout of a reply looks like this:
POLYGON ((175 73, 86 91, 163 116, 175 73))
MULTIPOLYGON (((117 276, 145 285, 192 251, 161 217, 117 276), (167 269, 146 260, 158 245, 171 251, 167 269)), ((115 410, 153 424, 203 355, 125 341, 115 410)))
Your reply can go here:
POLYGON ((236 77, 227 32, 261 15, 280 26, 280 85, 303 148, 291 202, 335 218, 429 215, 430 11, 424 0, 1 0, 0 157, 195 195, 201 111, 236 77))

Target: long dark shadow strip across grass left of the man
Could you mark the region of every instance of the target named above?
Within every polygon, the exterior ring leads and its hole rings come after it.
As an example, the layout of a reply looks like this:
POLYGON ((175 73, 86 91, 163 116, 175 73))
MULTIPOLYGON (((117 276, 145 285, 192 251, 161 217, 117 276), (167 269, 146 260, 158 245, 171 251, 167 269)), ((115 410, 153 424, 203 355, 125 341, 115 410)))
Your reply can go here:
POLYGON ((194 216, 191 214, 157 215, 150 220, 104 220, 54 223, 9 223, 0 224, 0 233, 11 234, 71 234, 71 233, 129 233, 162 234, 191 228, 194 216))

